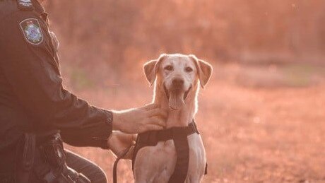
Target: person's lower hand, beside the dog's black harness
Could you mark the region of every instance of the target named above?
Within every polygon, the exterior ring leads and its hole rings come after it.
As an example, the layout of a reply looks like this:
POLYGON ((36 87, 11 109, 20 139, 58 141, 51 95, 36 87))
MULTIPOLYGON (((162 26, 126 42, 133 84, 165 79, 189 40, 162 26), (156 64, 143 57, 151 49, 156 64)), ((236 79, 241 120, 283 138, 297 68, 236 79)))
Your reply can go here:
MULTIPOLYGON (((114 155, 121 157, 130 146, 136 143, 136 135, 124 134, 120 131, 113 131, 107 139, 107 146, 112 150, 114 155)), ((134 146, 128 150, 122 159, 132 159, 134 146)))

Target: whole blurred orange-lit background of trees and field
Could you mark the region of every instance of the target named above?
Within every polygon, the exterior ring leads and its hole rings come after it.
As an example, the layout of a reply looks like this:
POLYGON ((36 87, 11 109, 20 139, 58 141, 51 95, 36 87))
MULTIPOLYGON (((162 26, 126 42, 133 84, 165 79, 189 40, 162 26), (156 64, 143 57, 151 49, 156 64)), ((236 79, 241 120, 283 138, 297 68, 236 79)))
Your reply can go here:
MULTIPOLYGON (((93 105, 150 102, 145 61, 196 54, 213 78, 196 115, 204 182, 325 182, 324 0, 47 1, 64 84, 93 105)), ((112 182, 114 157, 70 149, 112 182)), ((119 181, 132 182, 131 163, 119 181)))

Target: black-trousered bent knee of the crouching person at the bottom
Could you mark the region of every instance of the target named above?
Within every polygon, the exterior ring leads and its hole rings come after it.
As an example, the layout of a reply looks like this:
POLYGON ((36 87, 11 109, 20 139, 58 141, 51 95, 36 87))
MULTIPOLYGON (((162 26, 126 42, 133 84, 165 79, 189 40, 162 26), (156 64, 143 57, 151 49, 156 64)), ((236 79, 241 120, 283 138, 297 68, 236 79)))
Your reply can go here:
POLYGON ((105 172, 98 165, 69 150, 66 150, 66 164, 76 172, 88 177, 92 183, 107 182, 105 172))

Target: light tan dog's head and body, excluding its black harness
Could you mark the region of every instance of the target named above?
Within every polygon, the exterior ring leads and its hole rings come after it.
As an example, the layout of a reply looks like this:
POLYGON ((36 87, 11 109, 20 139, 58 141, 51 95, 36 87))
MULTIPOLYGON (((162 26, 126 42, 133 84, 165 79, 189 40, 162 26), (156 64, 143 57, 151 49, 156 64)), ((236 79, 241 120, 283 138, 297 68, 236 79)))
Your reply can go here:
MULTIPOLYGON (((211 77, 212 66, 194 55, 162 54, 143 66, 146 78, 155 83, 153 102, 169 110, 167 129, 187 126, 197 112, 199 84, 203 88, 211 77)), ((199 134, 191 134, 189 169, 185 182, 201 182, 206 152, 199 134)), ((168 182, 177 160, 174 141, 158 142, 138 150, 134 163, 135 182, 168 182)))

